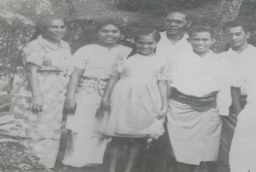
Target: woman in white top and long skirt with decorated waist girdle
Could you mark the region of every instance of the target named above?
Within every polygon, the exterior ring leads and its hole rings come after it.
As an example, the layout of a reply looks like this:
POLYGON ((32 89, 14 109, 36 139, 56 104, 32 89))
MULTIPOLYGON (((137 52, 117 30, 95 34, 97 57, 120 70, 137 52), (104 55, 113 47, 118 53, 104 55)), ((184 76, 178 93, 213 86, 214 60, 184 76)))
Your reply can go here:
POLYGON ((69 136, 64 160, 73 167, 103 163, 107 137, 98 132, 96 110, 117 57, 131 48, 117 44, 121 25, 115 19, 97 22, 98 44, 81 47, 73 55, 74 71, 65 101, 69 136), (75 108, 76 107, 76 108, 75 108))

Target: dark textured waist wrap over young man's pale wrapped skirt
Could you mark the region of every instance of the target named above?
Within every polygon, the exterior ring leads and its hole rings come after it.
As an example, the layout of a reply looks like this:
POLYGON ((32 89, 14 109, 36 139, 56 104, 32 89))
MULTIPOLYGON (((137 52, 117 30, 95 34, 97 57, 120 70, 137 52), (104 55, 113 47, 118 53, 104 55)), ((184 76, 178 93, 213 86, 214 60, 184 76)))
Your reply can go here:
POLYGON ((216 93, 217 91, 214 91, 202 97, 197 97, 184 94, 178 91, 176 88, 173 88, 170 98, 180 103, 187 104, 199 112, 204 112, 216 107, 216 93))

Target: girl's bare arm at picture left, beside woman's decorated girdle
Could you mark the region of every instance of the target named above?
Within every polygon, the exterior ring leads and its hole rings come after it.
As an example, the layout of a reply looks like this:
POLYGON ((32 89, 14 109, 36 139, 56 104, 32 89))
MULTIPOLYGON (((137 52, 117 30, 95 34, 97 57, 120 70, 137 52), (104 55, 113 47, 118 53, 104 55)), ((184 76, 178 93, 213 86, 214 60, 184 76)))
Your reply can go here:
POLYGON ((114 88, 114 86, 118 80, 119 80, 119 78, 117 78, 117 77, 114 77, 114 76, 110 77, 110 79, 105 87, 103 97, 101 99, 101 105, 98 108, 98 110, 96 111, 96 114, 95 114, 96 118, 99 118, 100 116, 102 116, 105 113, 105 111, 107 111, 110 108, 108 99, 110 97, 112 89, 114 88))

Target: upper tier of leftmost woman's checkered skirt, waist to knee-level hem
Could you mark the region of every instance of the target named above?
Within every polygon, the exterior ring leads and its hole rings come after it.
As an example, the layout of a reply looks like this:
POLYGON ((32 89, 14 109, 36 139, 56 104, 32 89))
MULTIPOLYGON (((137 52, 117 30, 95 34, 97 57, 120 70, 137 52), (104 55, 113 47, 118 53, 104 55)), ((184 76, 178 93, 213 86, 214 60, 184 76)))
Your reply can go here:
MULTIPOLYGON (((26 136, 31 138, 60 139, 61 121, 65 96, 63 93, 63 75, 55 73, 39 73, 40 91, 43 97, 43 111, 36 113, 31 110, 32 93, 26 76, 15 85, 14 104, 11 111, 22 114, 26 125, 26 136), (51 81, 51 82, 49 82, 51 81)), ((24 137, 21 135, 20 137, 24 137)))

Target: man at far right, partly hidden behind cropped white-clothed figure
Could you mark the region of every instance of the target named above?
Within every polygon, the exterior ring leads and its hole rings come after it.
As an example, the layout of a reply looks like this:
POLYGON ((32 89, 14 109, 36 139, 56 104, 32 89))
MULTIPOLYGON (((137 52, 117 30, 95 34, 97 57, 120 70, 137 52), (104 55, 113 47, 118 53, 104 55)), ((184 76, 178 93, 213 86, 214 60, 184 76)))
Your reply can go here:
MULTIPOLYGON (((230 21, 223 26, 226 41, 231 46, 228 51, 220 53, 219 58, 225 66, 226 73, 229 79, 234 79, 237 75, 244 71, 239 69, 239 66, 245 62, 251 61, 255 58, 256 48, 247 43, 250 37, 244 21, 230 21)), ((231 85, 234 81, 231 80, 231 85)), ((229 164, 229 148, 233 137, 234 117, 244 108, 246 104, 247 90, 246 83, 241 85, 240 88, 232 87, 233 105, 230 108, 230 118, 223 117, 223 128, 221 131, 221 146, 220 146, 220 163, 229 164), (240 94, 241 91, 241 94, 240 94), (239 94, 234 94, 238 92, 239 94), (235 97, 234 97, 235 96, 235 97), (237 97, 239 96, 239 97, 237 97), (238 106, 236 106, 236 104, 238 106), (236 115, 235 115, 236 113, 236 115)))

